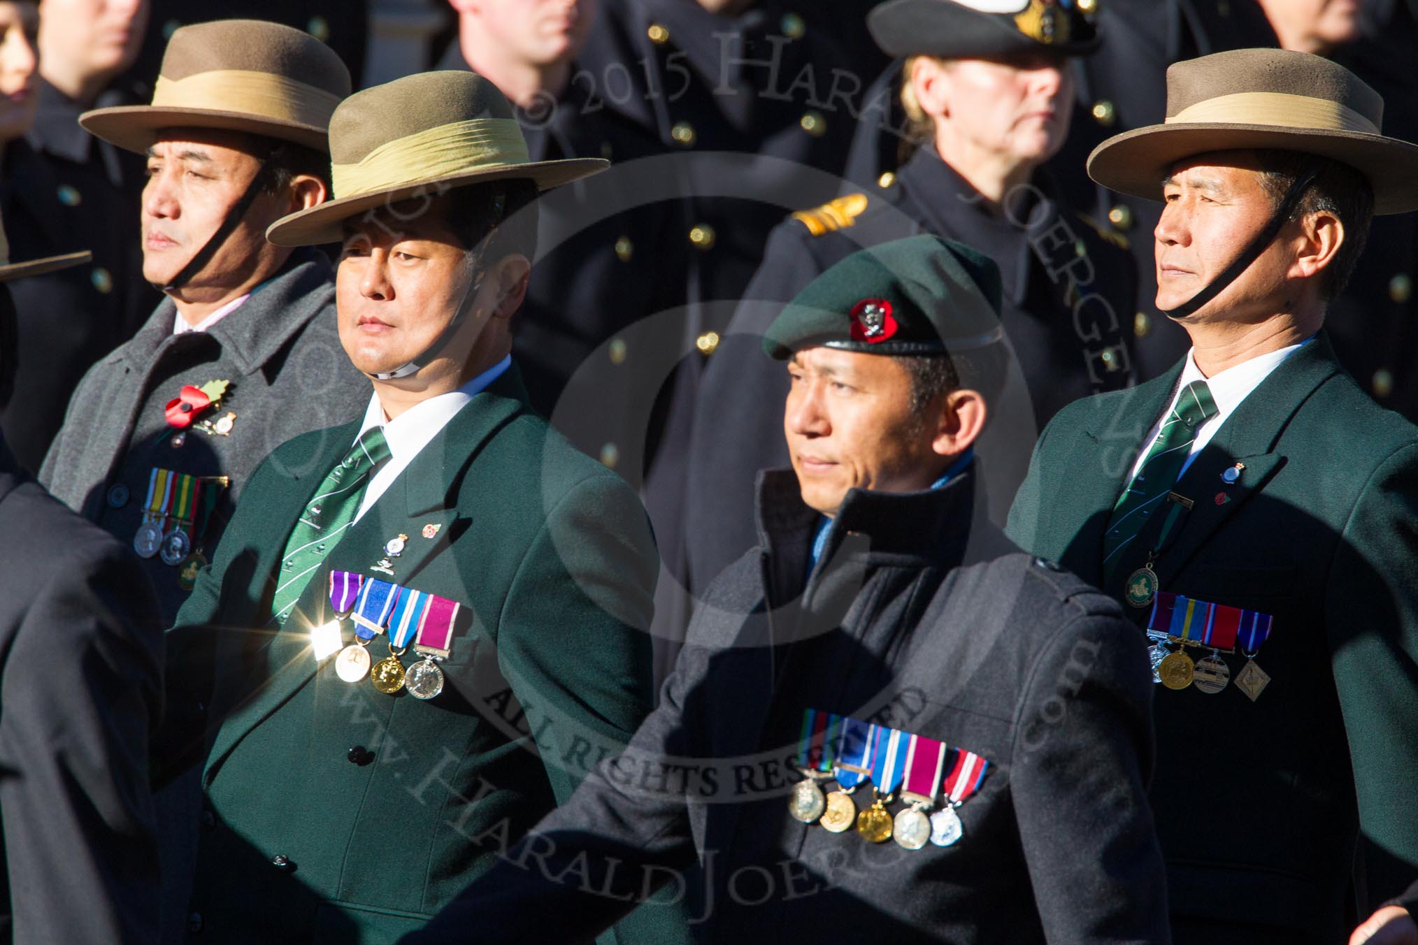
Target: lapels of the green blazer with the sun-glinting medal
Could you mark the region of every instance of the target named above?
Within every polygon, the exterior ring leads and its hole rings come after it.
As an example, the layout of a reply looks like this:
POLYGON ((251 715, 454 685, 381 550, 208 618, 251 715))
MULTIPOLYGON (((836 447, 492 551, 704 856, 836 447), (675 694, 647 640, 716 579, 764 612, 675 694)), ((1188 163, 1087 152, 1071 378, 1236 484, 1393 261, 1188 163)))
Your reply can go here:
MULTIPOLYGON (((457 506, 457 486, 464 470, 484 443, 523 409, 526 409, 526 391, 513 366, 458 411, 369 511, 350 526, 330 551, 325 567, 311 578, 285 626, 274 633, 258 655, 255 667, 240 690, 251 696, 227 715, 208 752, 206 783, 211 782, 221 762, 247 732, 284 706, 319 670, 320 663, 315 662, 311 652, 309 630, 332 619, 326 596, 330 571, 353 571, 366 578, 417 585, 423 567, 435 554, 448 548, 464 530, 462 520, 467 516, 457 506), (423 528, 427 524, 438 526, 431 540, 423 538, 423 528), (391 560, 394 577, 370 571, 370 567, 384 557, 384 544, 397 534, 407 534, 410 540, 406 551, 391 560)), ((340 445, 340 452, 353 442, 359 424, 350 425, 347 431, 349 436, 332 438, 340 445)), ((329 462, 319 468, 313 480, 303 486, 292 483, 291 492, 301 502, 289 502, 282 520, 285 533, 292 527, 298 510, 323 479, 325 472, 336 462, 337 455, 332 455, 329 462)), ((261 551, 264 567, 257 570, 254 578, 254 582, 261 585, 261 594, 267 594, 265 584, 279 564, 277 558, 284 550, 284 541, 282 533, 269 545, 269 551, 267 548, 261 551)), ((254 595, 252 599, 265 598, 254 595)))

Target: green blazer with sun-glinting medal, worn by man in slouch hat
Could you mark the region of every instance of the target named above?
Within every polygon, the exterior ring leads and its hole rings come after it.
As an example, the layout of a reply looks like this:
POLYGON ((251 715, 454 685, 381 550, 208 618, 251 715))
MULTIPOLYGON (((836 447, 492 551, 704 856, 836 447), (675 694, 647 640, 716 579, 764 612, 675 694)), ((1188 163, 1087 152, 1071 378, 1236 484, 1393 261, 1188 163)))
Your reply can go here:
MULTIPOLYGON (((393 942, 651 708, 659 558, 645 511, 530 411, 515 367, 345 533, 285 628, 267 629, 286 537, 357 429, 306 434, 257 469, 170 635, 169 714, 207 717, 206 737, 174 725, 164 738, 170 758, 206 757, 189 915, 201 941, 393 942), (400 534, 394 577, 370 571, 400 534), (333 619, 329 570, 462 604, 442 694, 391 697, 316 663, 308 630, 333 619)), ((370 655, 387 656, 387 636, 370 655)), ((623 928, 674 936, 634 915, 623 928)))

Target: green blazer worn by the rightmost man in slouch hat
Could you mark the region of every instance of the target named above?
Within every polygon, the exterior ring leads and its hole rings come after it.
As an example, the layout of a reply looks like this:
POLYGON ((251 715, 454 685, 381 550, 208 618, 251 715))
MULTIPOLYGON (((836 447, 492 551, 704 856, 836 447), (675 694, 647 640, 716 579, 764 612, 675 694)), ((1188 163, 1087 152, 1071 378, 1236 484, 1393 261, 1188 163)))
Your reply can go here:
MULTIPOLYGON (((1103 585, 1103 528, 1180 374, 1058 414, 1010 537, 1103 585)), ((1214 942, 1238 922, 1254 925, 1235 941, 1271 941, 1256 925, 1276 941, 1346 941, 1356 837, 1370 902, 1418 868, 1418 428, 1377 407, 1320 333, 1236 407, 1174 492, 1195 504, 1157 561, 1163 591, 1275 618, 1256 701, 1235 684, 1157 687, 1153 809, 1174 919, 1210 927, 1214 942)), ((1105 591, 1123 599, 1157 526, 1105 591)), ((1228 662, 1235 679, 1245 657, 1228 662)))

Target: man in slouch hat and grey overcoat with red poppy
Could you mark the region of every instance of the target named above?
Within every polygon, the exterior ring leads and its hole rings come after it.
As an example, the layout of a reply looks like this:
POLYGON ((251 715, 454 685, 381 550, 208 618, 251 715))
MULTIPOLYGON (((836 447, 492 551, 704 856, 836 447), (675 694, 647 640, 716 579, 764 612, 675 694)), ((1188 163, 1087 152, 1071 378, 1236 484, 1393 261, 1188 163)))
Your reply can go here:
POLYGON ((147 156, 143 278, 167 298, 79 383, 40 480, 133 544, 169 621, 257 463, 363 404, 329 261, 265 241, 329 196, 325 135, 349 91, 305 33, 220 20, 173 34, 150 105, 82 118, 147 156))

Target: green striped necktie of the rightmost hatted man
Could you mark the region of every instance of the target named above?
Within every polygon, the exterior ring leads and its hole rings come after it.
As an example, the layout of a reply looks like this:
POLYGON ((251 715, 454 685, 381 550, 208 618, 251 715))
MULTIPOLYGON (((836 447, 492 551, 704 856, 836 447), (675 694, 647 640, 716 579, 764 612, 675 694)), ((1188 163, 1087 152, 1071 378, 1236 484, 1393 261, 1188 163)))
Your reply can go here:
POLYGON ((1205 381, 1193 381, 1181 390, 1137 475, 1113 506, 1107 531, 1103 534, 1105 581, 1113 578, 1119 562, 1127 557, 1122 554, 1123 548, 1133 543, 1147 524, 1153 509, 1157 509, 1177 485, 1181 468, 1191 455, 1191 443, 1197 439, 1197 429, 1215 415, 1217 402, 1211 400, 1211 390, 1205 381))

